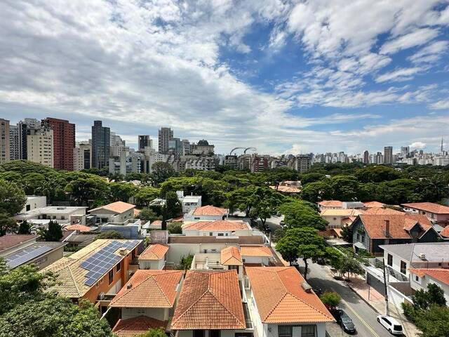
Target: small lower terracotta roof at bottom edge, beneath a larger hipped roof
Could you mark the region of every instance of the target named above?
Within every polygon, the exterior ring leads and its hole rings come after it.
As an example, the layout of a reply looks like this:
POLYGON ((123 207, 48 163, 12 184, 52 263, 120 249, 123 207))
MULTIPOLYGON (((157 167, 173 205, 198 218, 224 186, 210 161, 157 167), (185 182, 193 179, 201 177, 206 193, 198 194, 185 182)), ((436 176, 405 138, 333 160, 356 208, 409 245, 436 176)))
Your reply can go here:
POLYGON ((135 337, 147 332, 148 329, 166 329, 167 323, 147 316, 119 319, 114 328, 112 328, 112 332, 117 337, 135 337))

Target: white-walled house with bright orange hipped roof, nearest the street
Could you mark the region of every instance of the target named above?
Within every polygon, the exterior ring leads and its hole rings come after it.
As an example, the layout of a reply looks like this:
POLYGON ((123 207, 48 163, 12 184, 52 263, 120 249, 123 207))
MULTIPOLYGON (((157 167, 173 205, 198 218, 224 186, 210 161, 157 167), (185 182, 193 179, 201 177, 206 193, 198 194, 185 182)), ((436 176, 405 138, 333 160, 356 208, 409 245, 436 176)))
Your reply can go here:
POLYGON ((330 312, 295 267, 246 267, 258 337, 325 337, 330 312))

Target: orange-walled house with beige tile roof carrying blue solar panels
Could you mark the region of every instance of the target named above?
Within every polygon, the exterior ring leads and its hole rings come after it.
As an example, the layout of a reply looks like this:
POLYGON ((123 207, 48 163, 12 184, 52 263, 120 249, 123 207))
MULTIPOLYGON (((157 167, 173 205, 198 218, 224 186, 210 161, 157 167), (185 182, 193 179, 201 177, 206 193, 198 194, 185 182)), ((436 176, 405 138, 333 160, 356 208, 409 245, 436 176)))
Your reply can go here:
MULTIPOLYGON (((43 269, 53 272, 51 288, 72 300, 92 303, 118 293, 129 279, 130 263, 137 257, 141 240, 97 239, 70 256, 43 269)), ((106 305, 109 303, 105 303, 106 305)))

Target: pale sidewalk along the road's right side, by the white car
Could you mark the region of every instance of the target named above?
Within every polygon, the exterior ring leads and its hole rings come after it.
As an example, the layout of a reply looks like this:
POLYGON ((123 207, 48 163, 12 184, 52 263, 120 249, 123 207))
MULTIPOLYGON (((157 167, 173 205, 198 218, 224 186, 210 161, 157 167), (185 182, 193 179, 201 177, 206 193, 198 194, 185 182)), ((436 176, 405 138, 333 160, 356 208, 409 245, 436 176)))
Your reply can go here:
MULTIPOLYGON (((385 313, 385 298, 381 293, 373 289, 366 283, 363 277, 358 275, 349 277, 351 282, 346 282, 350 289, 352 289, 361 299, 363 299, 371 308, 377 311, 380 315, 385 313)), ((389 315, 402 323, 404 335, 407 337, 417 337, 418 329, 415 324, 409 322, 403 315, 402 310, 397 308, 393 303, 389 303, 389 315)))

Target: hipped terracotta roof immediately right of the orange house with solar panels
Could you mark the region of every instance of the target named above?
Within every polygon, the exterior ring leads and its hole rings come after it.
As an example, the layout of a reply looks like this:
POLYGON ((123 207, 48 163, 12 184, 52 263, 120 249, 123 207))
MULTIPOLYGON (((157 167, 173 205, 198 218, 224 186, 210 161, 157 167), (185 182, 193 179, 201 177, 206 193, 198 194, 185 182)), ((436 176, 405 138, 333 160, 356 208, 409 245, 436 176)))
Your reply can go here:
POLYGON ((172 308, 182 270, 136 270, 109 304, 119 308, 172 308))

